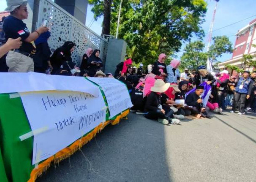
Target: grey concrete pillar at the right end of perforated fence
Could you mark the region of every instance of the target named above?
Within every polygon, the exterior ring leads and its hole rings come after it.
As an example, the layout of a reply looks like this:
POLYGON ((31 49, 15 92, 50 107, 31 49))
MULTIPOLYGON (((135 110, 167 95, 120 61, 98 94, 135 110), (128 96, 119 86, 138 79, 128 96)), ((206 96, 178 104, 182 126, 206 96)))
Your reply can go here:
POLYGON ((109 39, 108 53, 105 63, 105 73, 112 73, 116 71, 116 66, 124 61, 126 54, 127 43, 121 39, 109 39))

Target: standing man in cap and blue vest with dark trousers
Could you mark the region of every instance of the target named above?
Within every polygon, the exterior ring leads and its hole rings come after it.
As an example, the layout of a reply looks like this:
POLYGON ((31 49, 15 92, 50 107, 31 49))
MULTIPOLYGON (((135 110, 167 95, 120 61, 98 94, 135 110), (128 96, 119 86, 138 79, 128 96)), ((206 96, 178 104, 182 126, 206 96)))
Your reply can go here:
POLYGON ((233 106, 232 110, 230 111, 231 113, 234 113, 236 111, 236 107, 238 107, 238 114, 245 115, 245 102, 246 99, 250 98, 253 87, 253 81, 249 76, 250 72, 244 71, 243 77, 241 77, 237 82, 233 106))

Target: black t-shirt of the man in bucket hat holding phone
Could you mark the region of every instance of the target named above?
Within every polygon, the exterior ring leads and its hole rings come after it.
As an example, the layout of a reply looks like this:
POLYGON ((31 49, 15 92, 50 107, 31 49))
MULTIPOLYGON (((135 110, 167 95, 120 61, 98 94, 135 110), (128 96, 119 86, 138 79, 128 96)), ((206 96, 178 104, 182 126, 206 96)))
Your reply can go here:
POLYGON ((4 20, 3 30, 5 33, 5 39, 9 38, 17 39, 21 37, 22 46, 19 50, 27 52, 29 54, 35 54, 35 47, 33 44, 25 41, 29 37, 30 32, 26 24, 22 20, 15 18, 14 16, 7 16, 4 20))

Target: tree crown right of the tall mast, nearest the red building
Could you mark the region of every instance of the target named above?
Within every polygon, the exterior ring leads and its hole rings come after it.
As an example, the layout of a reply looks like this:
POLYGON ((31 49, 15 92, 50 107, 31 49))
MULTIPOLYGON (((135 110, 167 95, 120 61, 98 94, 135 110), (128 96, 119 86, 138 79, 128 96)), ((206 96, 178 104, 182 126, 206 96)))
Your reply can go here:
POLYGON ((227 36, 216 36, 212 40, 214 43, 210 46, 208 51, 209 59, 212 63, 221 58, 224 53, 233 53, 232 43, 227 36))

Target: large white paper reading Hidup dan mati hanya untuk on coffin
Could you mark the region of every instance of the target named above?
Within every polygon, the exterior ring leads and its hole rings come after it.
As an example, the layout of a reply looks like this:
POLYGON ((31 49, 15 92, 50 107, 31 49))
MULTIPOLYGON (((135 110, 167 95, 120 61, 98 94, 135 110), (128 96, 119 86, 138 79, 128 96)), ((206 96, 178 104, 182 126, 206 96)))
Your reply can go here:
POLYGON ((95 98, 72 91, 19 94, 32 131, 47 128, 34 135, 33 164, 51 157, 106 121, 102 95, 95 98))

